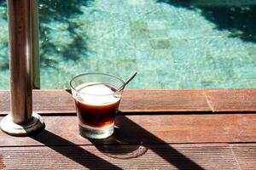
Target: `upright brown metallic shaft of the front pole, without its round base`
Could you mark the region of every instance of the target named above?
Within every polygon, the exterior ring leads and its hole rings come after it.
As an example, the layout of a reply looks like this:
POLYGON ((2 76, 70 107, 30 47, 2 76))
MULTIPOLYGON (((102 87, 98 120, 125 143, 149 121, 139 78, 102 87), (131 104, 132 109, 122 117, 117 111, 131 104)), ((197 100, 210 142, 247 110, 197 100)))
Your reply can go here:
POLYGON ((32 116, 29 1, 8 1, 11 80, 11 113, 15 123, 32 116))

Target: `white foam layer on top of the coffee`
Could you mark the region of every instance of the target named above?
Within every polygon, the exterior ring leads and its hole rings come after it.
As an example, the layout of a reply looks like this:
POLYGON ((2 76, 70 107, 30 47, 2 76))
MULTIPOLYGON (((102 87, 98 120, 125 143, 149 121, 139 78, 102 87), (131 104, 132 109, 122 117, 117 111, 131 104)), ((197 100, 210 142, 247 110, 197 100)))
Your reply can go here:
POLYGON ((120 99, 116 88, 101 82, 84 83, 76 87, 75 99, 85 105, 111 105, 120 99))

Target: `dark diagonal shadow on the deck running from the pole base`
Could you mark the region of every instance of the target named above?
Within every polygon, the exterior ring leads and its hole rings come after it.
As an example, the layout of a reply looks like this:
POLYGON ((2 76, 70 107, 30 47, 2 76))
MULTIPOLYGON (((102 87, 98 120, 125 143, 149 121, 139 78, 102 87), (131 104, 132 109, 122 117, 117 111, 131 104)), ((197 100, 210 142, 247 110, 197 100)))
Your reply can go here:
POLYGON ((108 167, 109 169, 121 169, 112 163, 103 160, 101 157, 91 154, 89 151, 84 150, 76 144, 63 139, 55 133, 51 133, 47 130, 44 130, 41 133, 33 134, 30 136, 32 139, 37 140, 38 142, 47 145, 52 150, 60 153, 62 156, 76 161, 83 167, 94 169, 96 167, 108 167), (55 144, 55 145, 51 145, 55 144), (57 145, 56 145, 57 144, 57 145), (70 149, 63 148, 63 146, 70 147, 70 149), (94 160, 94 161, 90 161, 94 160))

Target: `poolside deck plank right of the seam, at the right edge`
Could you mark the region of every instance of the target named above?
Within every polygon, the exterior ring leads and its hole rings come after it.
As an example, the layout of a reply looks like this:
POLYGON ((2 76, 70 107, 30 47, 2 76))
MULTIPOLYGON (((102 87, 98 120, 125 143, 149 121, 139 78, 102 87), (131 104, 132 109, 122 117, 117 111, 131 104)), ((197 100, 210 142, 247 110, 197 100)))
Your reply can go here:
POLYGON ((256 88, 206 89, 213 111, 256 111, 256 88))

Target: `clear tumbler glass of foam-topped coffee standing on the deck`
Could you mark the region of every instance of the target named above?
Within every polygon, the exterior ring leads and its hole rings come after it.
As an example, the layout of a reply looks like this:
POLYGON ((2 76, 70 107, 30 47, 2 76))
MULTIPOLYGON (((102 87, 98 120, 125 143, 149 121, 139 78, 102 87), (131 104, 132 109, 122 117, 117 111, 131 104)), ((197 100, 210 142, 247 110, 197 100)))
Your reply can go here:
POLYGON ((79 117, 79 133, 89 139, 106 139, 113 133, 125 82, 105 73, 84 73, 70 81, 79 117), (119 89, 120 88, 120 89, 119 89))

